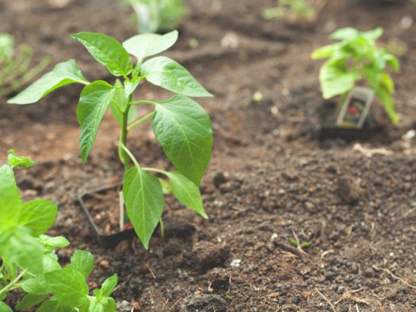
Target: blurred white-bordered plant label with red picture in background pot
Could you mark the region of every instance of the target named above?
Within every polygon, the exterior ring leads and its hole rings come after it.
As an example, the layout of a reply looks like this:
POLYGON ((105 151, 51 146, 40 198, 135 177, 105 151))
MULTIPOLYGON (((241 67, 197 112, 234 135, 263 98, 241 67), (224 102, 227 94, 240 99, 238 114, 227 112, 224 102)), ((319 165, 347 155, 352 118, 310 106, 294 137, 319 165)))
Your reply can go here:
POLYGON ((373 100, 374 91, 372 89, 354 87, 343 103, 336 125, 340 128, 361 129, 373 100))

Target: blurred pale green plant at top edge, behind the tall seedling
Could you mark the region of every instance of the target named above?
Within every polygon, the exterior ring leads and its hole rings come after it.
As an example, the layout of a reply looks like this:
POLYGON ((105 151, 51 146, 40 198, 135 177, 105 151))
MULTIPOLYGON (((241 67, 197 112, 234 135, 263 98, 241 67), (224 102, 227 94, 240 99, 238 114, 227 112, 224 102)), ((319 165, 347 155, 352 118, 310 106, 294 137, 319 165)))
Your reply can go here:
POLYGON ((166 33, 180 26, 188 8, 184 0, 128 0, 137 15, 139 33, 166 33))

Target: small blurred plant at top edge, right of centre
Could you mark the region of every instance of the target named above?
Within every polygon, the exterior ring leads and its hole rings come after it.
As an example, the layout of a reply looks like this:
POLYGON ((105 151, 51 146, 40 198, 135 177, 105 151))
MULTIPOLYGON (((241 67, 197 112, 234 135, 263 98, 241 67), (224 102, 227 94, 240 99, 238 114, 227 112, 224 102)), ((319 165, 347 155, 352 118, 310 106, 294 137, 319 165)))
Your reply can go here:
POLYGON ((316 10, 309 0, 278 0, 277 6, 263 11, 264 19, 285 17, 291 21, 316 19, 316 10))

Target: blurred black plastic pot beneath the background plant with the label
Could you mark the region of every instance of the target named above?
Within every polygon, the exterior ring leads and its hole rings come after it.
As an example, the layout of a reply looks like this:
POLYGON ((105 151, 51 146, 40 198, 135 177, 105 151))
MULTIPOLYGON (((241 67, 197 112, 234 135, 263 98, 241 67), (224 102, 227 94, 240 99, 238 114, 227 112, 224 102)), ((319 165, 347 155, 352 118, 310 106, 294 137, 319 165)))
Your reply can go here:
POLYGON ((323 141, 324 139, 345 139, 345 141, 373 139, 374 136, 384 132, 384 128, 378 125, 369 114, 363 128, 340 128, 336 125, 338 112, 336 103, 325 102, 320 107, 308 106, 309 127, 313 137, 323 141))

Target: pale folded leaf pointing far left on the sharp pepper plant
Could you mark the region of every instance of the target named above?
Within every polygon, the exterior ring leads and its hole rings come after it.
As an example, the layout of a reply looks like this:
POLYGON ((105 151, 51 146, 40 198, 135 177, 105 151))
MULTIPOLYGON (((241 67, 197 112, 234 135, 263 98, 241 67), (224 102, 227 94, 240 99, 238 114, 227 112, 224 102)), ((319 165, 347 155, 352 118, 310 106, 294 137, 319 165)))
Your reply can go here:
POLYGON ((78 69, 74 60, 61 62, 55 65, 52 71, 45 73, 39 80, 28 86, 14 98, 10 98, 9 104, 31 104, 39 101, 46 94, 71 83, 88 85, 83 74, 78 69))

